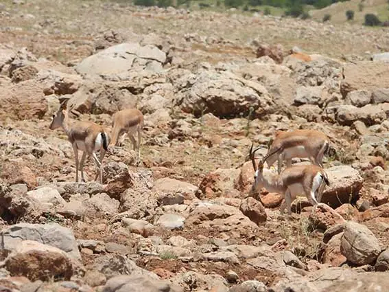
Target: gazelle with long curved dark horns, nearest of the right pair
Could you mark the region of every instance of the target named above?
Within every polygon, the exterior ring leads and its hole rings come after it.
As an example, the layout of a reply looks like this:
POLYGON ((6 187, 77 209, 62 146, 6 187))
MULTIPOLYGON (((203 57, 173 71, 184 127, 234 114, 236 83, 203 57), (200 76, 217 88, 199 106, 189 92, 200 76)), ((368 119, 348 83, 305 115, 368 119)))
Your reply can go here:
POLYGON ((257 166, 255 163, 255 152, 264 146, 259 146, 255 150, 252 150, 252 146, 249 155, 255 171, 255 181, 252 184, 251 192, 266 188, 268 192, 281 194, 285 198, 285 204, 281 204, 280 212, 284 212, 286 205, 287 214, 289 215, 292 214, 292 198, 295 199, 299 194, 305 194, 309 203, 312 205, 320 203, 325 187, 323 181, 329 186, 327 174, 320 166, 312 164, 307 166, 291 166, 290 168, 285 168, 280 174, 277 174, 268 168, 263 168, 266 159, 274 154, 276 150, 265 155, 257 166))

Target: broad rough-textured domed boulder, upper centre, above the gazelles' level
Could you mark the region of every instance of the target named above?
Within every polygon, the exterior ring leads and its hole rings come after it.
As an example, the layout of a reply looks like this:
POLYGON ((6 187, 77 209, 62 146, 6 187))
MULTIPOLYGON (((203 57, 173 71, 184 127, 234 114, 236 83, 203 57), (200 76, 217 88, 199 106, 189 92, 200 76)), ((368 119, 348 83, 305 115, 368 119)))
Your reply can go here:
POLYGON ((213 113, 218 117, 260 116, 276 110, 265 87, 227 71, 203 71, 178 80, 176 104, 187 113, 213 113))

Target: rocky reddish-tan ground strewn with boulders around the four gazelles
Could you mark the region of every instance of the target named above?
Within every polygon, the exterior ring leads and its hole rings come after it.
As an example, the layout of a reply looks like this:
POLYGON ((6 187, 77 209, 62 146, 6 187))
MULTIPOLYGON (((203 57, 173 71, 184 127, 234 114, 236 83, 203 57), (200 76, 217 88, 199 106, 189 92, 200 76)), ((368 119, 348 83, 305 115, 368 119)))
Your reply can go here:
POLYGON ((1 291, 388 289, 385 34, 52 3, 0 5, 1 291), (115 111, 140 109, 141 163, 126 140, 108 150, 103 186, 92 161, 75 183, 71 144, 49 130, 63 98, 108 132, 115 111), (331 139, 331 186, 287 221, 279 194, 248 197, 246 156, 294 128, 331 139))

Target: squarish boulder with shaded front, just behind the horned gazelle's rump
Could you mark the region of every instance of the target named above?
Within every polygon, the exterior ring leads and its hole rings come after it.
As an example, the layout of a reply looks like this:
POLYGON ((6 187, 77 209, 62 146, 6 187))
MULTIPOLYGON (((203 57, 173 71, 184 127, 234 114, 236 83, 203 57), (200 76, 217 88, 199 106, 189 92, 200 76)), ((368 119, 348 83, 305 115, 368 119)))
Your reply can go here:
POLYGON ((343 203, 355 203, 359 199, 364 179, 358 170, 351 166, 333 166, 325 170, 329 179, 320 203, 330 205, 334 209, 343 203))

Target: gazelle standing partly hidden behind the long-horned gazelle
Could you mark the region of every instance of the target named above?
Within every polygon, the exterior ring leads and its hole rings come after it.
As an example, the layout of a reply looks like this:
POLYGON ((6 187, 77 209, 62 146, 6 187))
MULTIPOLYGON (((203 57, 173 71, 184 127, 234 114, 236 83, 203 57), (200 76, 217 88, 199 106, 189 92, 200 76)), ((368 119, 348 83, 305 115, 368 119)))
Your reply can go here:
POLYGON ((308 157, 312 164, 322 168, 322 159, 328 150, 329 139, 320 131, 277 131, 269 147, 266 163, 270 167, 278 160, 277 171, 280 173, 284 160, 286 160, 286 166, 290 167, 293 157, 308 157))

